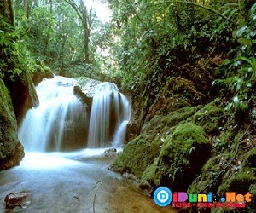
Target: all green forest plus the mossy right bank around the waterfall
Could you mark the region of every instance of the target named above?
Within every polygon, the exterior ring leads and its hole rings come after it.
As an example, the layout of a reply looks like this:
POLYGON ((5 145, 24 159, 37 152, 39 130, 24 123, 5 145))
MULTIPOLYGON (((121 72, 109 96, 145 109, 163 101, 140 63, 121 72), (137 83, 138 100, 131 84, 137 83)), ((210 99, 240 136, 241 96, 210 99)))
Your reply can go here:
POLYGON ((10 85, 45 66, 108 78, 133 106, 130 142, 113 170, 149 192, 165 184, 255 196, 254 1, 106 2, 110 23, 82 0, 15 1, 14 20, 2 13, 0 78, 10 85))

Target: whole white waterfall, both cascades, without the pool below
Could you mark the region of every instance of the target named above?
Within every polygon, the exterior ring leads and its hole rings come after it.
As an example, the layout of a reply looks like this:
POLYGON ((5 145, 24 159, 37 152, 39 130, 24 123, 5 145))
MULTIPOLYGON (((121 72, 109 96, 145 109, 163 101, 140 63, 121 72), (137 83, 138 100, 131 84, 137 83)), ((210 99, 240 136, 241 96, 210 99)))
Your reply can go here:
POLYGON ((113 83, 91 89, 90 107, 73 94, 72 78, 44 79, 36 87, 39 106, 26 113, 19 139, 26 151, 69 151, 85 147, 121 147, 131 106, 113 83))

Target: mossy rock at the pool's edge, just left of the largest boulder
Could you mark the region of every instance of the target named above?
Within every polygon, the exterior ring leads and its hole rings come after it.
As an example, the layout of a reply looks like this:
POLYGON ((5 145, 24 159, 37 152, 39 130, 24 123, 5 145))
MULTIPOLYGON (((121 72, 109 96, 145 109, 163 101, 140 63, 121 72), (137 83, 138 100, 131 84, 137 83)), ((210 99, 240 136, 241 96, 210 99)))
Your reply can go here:
POLYGON ((146 135, 140 135, 125 145, 123 153, 110 166, 119 173, 129 172, 140 178, 148 164, 160 153, 160 141, 148 141, 146 135))

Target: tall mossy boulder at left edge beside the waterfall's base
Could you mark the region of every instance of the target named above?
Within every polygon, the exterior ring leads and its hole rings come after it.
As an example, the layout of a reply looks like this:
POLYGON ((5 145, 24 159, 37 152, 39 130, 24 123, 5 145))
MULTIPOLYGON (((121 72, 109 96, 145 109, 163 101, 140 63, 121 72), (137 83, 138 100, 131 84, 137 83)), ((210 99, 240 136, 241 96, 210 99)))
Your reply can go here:
POLYGON ((0 78, 0 170, 19 164, 24 150, 17 135, 15 118, 9 91, 0 78))

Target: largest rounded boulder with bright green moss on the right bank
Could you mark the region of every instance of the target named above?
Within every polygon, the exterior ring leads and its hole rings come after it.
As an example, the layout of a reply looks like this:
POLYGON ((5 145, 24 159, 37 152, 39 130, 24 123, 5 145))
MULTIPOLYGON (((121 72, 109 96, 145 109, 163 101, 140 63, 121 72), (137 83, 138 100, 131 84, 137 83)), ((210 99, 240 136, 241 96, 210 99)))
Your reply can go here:
POLYGON ((200 126, 193 123, 177 125, 164 141, 159 158, 144 171, 141 187, 150 190, 166 185, 172 190, 186 190, 210 158, 211 148, 200 126))

